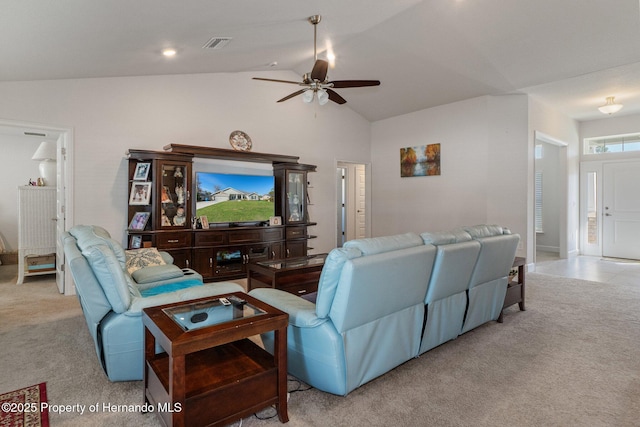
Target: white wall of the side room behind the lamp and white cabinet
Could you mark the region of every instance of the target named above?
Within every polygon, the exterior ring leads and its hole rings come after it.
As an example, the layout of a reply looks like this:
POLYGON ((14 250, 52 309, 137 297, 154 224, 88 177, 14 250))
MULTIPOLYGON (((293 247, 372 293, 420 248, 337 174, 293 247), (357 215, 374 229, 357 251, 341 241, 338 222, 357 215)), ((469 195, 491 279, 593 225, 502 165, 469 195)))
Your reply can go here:
POLYGON ((0 239, 7 252, 18 250, 18 187, 40 176, 38 163, 31 160, 41 138, 0 134, 0 239))

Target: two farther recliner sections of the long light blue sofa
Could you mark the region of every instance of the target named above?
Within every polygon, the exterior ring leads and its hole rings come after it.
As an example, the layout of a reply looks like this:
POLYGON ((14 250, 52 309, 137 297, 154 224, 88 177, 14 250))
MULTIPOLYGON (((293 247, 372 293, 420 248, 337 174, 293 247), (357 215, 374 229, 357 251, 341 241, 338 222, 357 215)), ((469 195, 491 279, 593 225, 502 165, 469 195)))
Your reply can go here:
POLYGON ((520 236, 497 225, 422 233, 438 248, 425 299, 420 354, 497 320, 520 236))

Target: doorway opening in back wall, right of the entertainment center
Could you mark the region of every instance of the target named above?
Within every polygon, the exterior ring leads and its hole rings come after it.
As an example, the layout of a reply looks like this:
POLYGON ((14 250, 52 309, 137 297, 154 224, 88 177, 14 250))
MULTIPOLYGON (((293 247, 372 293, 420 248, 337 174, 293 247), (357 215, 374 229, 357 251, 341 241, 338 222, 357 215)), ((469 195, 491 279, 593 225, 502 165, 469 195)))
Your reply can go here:
POLYGON ((368 165, 339 161, 336 167, 336 247, 368 237, 368 165))

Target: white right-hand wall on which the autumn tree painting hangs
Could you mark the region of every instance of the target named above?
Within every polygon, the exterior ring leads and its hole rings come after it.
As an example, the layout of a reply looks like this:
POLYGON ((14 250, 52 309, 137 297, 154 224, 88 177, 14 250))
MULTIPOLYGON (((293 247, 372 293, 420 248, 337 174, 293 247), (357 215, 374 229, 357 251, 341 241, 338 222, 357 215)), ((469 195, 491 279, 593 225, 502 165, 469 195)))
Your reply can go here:
POLYGON ((375 236, 500 224, 526 247, 527 97, 480 97, 373 123, 375 236), (441 175, 400 177, 400 148, 441 144, 441 175))

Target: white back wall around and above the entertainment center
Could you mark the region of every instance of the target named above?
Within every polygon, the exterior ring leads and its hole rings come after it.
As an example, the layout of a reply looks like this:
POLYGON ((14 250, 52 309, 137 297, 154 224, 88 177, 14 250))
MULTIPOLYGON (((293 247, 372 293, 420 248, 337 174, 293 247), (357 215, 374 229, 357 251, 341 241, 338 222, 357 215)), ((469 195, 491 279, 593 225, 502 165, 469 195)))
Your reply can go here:
MULTIPOLYGON (((335 162, 370 162, 370 124, 348 108, 277 104, 288 85, 251 80, 260 73, 52 80, 0 83, 0 118, 73 128, 74 219, 99 224, 124 242, 125 151, 162 150, 169 143, 231 148, 233 130, 253 151, 300 157, 318 166, 311 219, 316 251, 335 247, 335 162)), ((293 74, 264 73, 292 79, 293 74)), ((297 78, 297 76, 295 77, 297 78)), ((72 224, 69 224, 71 226, 72 224)))

